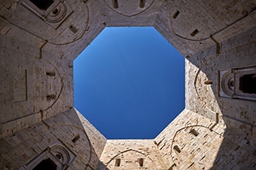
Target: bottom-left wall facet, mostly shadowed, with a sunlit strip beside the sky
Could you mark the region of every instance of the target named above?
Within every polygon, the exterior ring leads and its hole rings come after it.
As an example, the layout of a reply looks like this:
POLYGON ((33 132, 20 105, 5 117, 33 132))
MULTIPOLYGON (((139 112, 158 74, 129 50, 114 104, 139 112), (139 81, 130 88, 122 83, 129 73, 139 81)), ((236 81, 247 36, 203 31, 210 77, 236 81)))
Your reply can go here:
POLYGON ((32 169, 45 158, 62 168, 67 164, 69 169, 95 169, 106 138, 71 109, 5 136, 0 143, 4 169, 32 169))

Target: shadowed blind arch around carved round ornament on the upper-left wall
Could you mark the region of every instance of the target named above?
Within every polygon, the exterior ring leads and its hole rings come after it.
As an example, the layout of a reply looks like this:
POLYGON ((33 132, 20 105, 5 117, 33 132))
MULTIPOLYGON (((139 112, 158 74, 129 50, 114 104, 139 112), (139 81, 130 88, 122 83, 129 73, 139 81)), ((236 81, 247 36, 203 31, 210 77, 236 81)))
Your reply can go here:
POLYGON ((36 36, 37 38, 42 39, 43 41, 47 41, 50 44, 54 45, 67 45, 69 43, 75 42, 78 39, 81 39, 85 36, 85 32, 88 29, 89 22, 89 10, 87 3, 81 3, 77 8, 75 8, 79 15, 83 16, 80 20, 74 20, 70 15, 74 13, 74 6, 69 5, 66 1, 54 1, 54 4, 50 8, 49 14, 45 16, 45 14, 40 14, 40 10, 35 7, 35 5, 31 5, 32 3, 29 0, 21 0, 18 2, 20 8, 17 10, 25 10, 22 13, 17 12, 19 14, 16 15, 16 18, 25 17, 28 22, 33 23, 34 25, 40 25, 39 29, 31 29, 29 26, 22 26, 22 23, 12 22, 12 19, 5 18, 7 22, 9 22, 12 26, 17 26, 22 28, 26 32, 29 32, 31 35, 36 36), (39 17, 40 22, 35 22, 35 20, 26 15, 34 15, 39 17), (47 23, 48 27, 45 27, 47 23), (80 26, 82 29, 77 29, 76 32, 72 31, 74 29, 70 29, 70 26, 80 26), (44 30, 42 30, 44 28, 44 30), (61 29, 61 31, 58 31, 61 29), (54 30, 54 34, 49 34, 54 30))

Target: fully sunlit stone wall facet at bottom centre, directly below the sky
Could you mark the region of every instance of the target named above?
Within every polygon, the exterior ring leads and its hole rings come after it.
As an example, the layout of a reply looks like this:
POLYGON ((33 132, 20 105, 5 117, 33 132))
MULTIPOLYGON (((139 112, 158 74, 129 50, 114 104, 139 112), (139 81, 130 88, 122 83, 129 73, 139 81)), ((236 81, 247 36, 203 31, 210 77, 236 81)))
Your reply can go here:
POLYGON ((108 140, 100 160, 106 169, 167 169, 153 140, 108 140))

